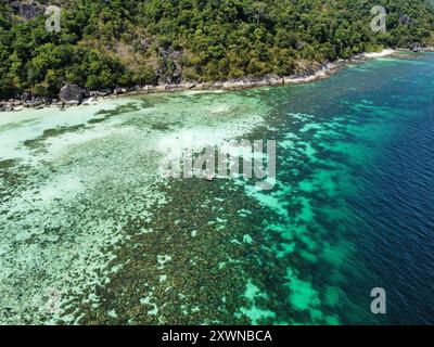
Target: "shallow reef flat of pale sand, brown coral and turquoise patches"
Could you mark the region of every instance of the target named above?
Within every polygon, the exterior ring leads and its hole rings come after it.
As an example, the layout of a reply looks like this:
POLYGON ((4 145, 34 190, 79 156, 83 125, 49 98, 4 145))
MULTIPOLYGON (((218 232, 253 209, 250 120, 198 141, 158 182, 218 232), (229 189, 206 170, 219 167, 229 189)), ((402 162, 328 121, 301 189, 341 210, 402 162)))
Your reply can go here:
POLYGON ((2 321, 340 323, 352 246, 327 227, 345 204, 316 196, 343 194, 350 172, 320 152, 339 153, 347 125, 275 117, 273 94, 148 95, 4 123, 2 321), (158 171, 240 138, 278 140, 273 191, 158 171))

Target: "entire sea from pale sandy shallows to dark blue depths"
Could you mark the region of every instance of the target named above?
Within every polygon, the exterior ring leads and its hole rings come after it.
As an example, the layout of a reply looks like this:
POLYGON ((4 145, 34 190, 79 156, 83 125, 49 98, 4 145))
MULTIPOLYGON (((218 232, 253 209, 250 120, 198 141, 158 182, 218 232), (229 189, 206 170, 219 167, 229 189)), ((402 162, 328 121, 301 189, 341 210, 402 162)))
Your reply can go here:
POLYGON ((407 55, 306 86, 1 115, 0 321, 433 323, 433 54, 407 55), (273 191, 158 177, 180 142, 231 138, 278 141, 273 191))

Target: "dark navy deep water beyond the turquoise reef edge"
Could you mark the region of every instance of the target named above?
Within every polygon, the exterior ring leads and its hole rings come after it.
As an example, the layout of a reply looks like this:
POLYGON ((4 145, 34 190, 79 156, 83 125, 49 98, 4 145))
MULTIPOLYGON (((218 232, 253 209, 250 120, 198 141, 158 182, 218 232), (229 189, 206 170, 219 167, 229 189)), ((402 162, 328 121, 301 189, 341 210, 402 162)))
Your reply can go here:
POLYGON ((387 321, 433 324, 434 55, 376 64, 395 82, 370 97, 393 115, 362 172, 368 184, 349 202, 365 224, 355 243, 386 290, 387 321))

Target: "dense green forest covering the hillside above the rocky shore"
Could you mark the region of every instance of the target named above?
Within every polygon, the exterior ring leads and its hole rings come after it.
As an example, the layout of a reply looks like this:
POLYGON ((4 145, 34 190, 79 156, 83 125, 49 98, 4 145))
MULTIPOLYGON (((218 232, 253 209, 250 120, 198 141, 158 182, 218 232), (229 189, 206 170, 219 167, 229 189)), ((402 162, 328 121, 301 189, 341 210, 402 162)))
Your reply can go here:
MULTIPOLYGON (((22 1, 26 2, 26 1, 22 1)), ((29 2, 29 1, 27 1, 29 2)), ((310 64, 434 43, 430 0, 59 0, 61 31, 0 3, 0 98, 298 73, 310 64), (385 33, 371 8, 387 11, 385 33), (407 15, 410 21, 401 21, 407 15)))

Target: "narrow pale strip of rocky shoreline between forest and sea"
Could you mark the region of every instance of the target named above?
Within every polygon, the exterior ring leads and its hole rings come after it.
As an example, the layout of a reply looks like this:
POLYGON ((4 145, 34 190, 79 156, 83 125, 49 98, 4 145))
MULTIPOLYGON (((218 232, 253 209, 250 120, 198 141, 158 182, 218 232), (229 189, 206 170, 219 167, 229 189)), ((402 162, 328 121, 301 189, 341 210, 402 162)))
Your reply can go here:
MULTIPOLYGON (((424 49, 426 51, 432 51, 432 48, 424 49)), ((132 95, 143 95, 150 93, 165 93, 165 92, 181 92, 181 91, 233 91, 233 90, 242 90, 242 89, 251 89, 258 87, 271 87, 271 86, 283 86, 283 85, 297 85, 297 83, 307 83, 317 80, 321 80, 324 78, 329 78, 341 68, 347 66, 348 64, 360 64, 366 60, 370 59, 379 59, 384 57, 396 52, 405 52, 406 50, 393 50, 393 49, 384 49, 381 52, 373 53, 362 53, 355 55, 353 57, 346 60, 337 60, 333 63, 326 63, 321 65, 317 70, 309 75, 292 75, 292 76, 283 76, 279 77, 276 75, 267 75, 264 77, 245 77, 240 79, 232 79, 228 81, 216 81, 216 82, 183 82, 179 85, 165 85, 165 86, 143 86, 133 91, 127 91, 122 93, 111 93, 104 97, 95 97, 88 98, 81 102, 81 105, 90 105, 97 104, 99 101, 108 100, 108 99, 117 99, 117 98, 128 98, 132 95)), ((3 108, 1 112, 21 112, 28 108, 35 107, 25 107, 23 104, 20 104, 20 101, 3 101, 3 108), (18 104, 17 104, 18 103, 18 104), (9 108, 9 110, 8 110, 9 108)), ((51 104, 39 105, 37 108, 44 107, 59 107, 60 110, 64 110, 65 107, 74 106, 75 104, 62 104, 56 101, 51 104)))

